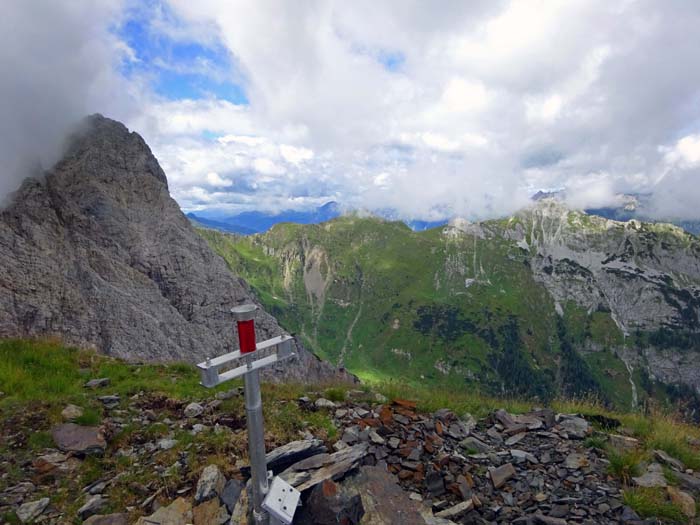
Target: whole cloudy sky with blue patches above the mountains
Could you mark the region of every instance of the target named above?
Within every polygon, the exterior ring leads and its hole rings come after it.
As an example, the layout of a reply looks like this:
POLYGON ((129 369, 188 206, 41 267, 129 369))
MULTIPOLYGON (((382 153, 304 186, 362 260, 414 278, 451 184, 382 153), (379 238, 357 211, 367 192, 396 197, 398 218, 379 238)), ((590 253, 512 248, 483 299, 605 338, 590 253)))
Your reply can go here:
POLYGON ((0 194, 99 112, 185 211, 499 217, 538 190, 698 219, 695 0, 8 0, 0 194))

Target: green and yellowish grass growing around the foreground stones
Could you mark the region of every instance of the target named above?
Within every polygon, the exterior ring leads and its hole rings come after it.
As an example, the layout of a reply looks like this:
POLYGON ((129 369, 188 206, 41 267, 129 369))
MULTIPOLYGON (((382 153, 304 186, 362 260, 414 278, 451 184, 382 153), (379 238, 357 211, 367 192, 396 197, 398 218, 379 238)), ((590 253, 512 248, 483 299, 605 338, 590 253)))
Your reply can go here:
MULTIPOLYGON (((377 375, 375 379, 384 377, 377 375)), ((119 434, 112 436, 104 457, 88 458, 70 479, 62 480, 50 494, 52 505, 72 515, 80 506, 79 498, 73 495, 89 482, 108 473, 118 477, 110 489, 111 508, 138 507, 145 496, 134 493, 130 484, 145 485, 151 493, 163 489, 163 498, 176 488, 175 478, 188 476, 188 482, 196 483, 201 469, 209 463, 219 464, 227 473, 232 473, 236 460, 246 460, 247 442, 245 434, 245 407, 242 396, 223 401, 219 410, 240 418, 240 428, 215 432, 205 430, 192 435, 188 429, 175 429, 163 423, 163 419, 180 417, 182 404, 213 398, 215 392, 198 385, 198 374, 193 366, 131 365, 92 352, 61 346, 56 341, 0 341, 0 384, 5 396, 0 399, 0 436, 20 435, 19 446, 10 449, 0 440, 0 455, 10 459, 7 476, 0 480, 0 491, 23 479, 21 465, 36 457, 37 452, 53 446, 50 429, 61 421, 60 412, 67 403, 83 408, 80 424, 97 425, 103 417, 103 408, 96 396, 118 393, 122 396, 122 409, 128 409, 128 396, 139 393, 138 399, 179 400, 170 407, 154 410, 156 420, 145 425, 128 424, 119 434), (49 366, 43 363, 46 359, 49 366), (50 373, 49 373, 50 371, 50 373), (58 377, 60 376, 60 377, 58 377), (85 389, 86 380, 109 377, 111 384, 98 391, 85 389), (170 407, 170 408, 169 408, 170 407), (155 442, 163 437, 172 437, 176 445, 166 451, 156 450, 153 459, 162 471, 173 465, 181 455, 188 459, 189 471, 170 472, 161 476, 153 465, 139 464, 134 459, 117 455, 120 448, 135 443, 155 442)), ((229 383, 221 389, 236 387, 240 382, 229 383)), ((357 402, 376 403, 375 394, 388 399, 403 398, 417 402, 418 410, 432 413, 441 408, 451 409, 462 416, 470 413, 483 417, 489 412, 505 408, 513 413, 523 413, 533 408, 533 402, 523 399, 502 399, 480 391, 476 387, 461 389, 440 386, 423 386, 398 381, 374 381, 360 387, 347 385, 311 385, 263 383, 262 396, 265 416, 266 444, 269 448, 300 439, 309 431, 329 444, 338 438, 338 429, 331 418, 332 411, 306 410, 297 400, 301 396, 325 397, 335 402, 345 400, 349 390, 357 402)), ((651 457, 651 451, 662 449, 683 461, 689 468, 700 469, 700 450, 688 444, 686 436, 700 438, 700 429, 680 423, 668 414, 612 412, 595 399, 556 400, 551 404, 558 412, 604 415, 617 419, 627 433, 640 440, 636 451, 618 452, 605 446, 603 434, 597 433, 586 441, 589 447, 604 449, 610 461, 610 473, 629 484, 631 477, 639 473, 639 465, 651 457)), ((127 419, 128 421, 128 419, 127 419)), ((615 430, 618 431, 618 430, 615 430)), ((668 479, 673 483, 673 476, 668 479)), ((656 515, 675 519, 678 509, 665 500, 664 494, 638 489, 625 493, 631 506, 643 515, 656 515), (657 513, 657 514, 653 514, 657 513)), ((11 518, 5 521, 12 523, 11 518)))

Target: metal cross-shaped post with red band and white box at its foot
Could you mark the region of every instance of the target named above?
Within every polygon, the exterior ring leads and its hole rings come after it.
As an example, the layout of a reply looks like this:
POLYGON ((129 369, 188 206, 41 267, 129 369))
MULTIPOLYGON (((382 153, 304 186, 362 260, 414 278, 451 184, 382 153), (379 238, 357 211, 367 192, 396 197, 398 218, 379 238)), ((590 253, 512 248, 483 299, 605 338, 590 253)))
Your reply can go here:
POLYGON ((255 341, 255 312, 257 306, 252 304, 233 308, 231 313, 238 327, 239 350, 224 354, 214 359, 207 358, 197 367, 202 374, 202 385, 213 388, 225 381, 243 376, 245 382, 245 408, 248 424, 248 455, 250 456, 250 473, 253 487, 253 518, 261 525, 289 525, 294 518, 299 492, 276 477, 272 484, 265 460, 265 434, 263 431, 262 399, 260 397, 260 373, 265 366, 277 363, 294 355, 292 338, 281 335, 256 343, 255 341), (275 351, 260 357, 261 351, 275 351), (231 366, 235 362, 243 365, 219 373, 221 368, 231 366))

